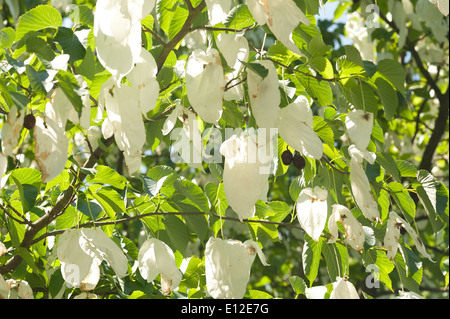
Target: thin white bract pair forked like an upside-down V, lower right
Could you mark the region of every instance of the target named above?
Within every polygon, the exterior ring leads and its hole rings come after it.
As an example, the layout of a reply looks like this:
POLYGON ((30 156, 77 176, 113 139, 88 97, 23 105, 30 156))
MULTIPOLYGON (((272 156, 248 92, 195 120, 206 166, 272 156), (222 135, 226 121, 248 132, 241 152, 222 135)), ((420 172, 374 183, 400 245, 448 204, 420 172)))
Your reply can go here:
POLYGON ((420 240, 417 233, 410 224, 395 212, 389 213, 389 220, 386 227, 386 235, 384 236, 384 247, 387 249, 387 257, 393 260, 398 250, 398 241, 400 239, 400 228, 403 227, 411 236, 416 245, 417 250, 430 261, 433 261, 431 255, 426 251, 425 245, 420 240))

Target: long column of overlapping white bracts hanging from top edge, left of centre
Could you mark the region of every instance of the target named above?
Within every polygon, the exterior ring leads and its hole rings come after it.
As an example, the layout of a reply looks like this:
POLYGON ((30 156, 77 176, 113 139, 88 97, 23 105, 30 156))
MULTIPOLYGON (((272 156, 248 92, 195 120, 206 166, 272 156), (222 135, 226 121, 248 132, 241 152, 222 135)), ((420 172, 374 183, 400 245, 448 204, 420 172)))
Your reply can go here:
POLYGON ((99 106, 106 110, 105 138, 114 135, 124 152, 130 174, 141 166, 145 127, 142 115, 155 108, 159 95, 156 61, 141 48, 141 19, 155 0, 101 0, 94 14, 94 36, 99 61, 112 74, 103 84, 99 106), (130 85, 122 84, 127 77, 130 85))

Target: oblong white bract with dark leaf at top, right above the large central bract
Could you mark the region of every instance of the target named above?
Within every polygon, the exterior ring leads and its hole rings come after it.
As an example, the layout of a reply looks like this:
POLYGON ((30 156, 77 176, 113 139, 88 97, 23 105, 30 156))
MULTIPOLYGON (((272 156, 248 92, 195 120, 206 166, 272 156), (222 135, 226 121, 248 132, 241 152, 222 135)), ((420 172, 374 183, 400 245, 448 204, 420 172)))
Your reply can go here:
POLYGON ((247 68, 248 95, 256 124, 261 128, 276 127, 280 115, 280 91, 278 75, 273 63, 268 60, 255 61, 269 72, 263 79, 259 74, 247 68))

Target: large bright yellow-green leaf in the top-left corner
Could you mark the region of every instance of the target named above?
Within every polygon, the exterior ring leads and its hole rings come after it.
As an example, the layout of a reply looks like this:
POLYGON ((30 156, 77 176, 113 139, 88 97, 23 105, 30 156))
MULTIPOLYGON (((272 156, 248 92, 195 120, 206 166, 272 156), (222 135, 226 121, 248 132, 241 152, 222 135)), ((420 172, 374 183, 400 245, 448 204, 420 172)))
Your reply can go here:
POLYGON ((16 30, 16 41, 30 31, 46 28, 57 29, 62 25, 62 17, 58 10, 48 5, 39 5, 19 18, 16 30))

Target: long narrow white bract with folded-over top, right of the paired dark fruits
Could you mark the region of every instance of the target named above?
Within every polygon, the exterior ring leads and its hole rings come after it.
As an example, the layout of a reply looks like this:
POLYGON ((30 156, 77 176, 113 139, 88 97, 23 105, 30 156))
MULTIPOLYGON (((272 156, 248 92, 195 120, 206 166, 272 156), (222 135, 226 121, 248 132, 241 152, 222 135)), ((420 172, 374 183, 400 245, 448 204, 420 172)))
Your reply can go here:
POLYGON ((370 164, 375 162, 375 154, 367 150, 361 151, 355 145, 351 145, 348 152, 351 156, 350 182, 355 202, 366 218, 371 221, 380 219, 378 204, 373 197, 369 179, 363 168, 364 160, 370 164))

